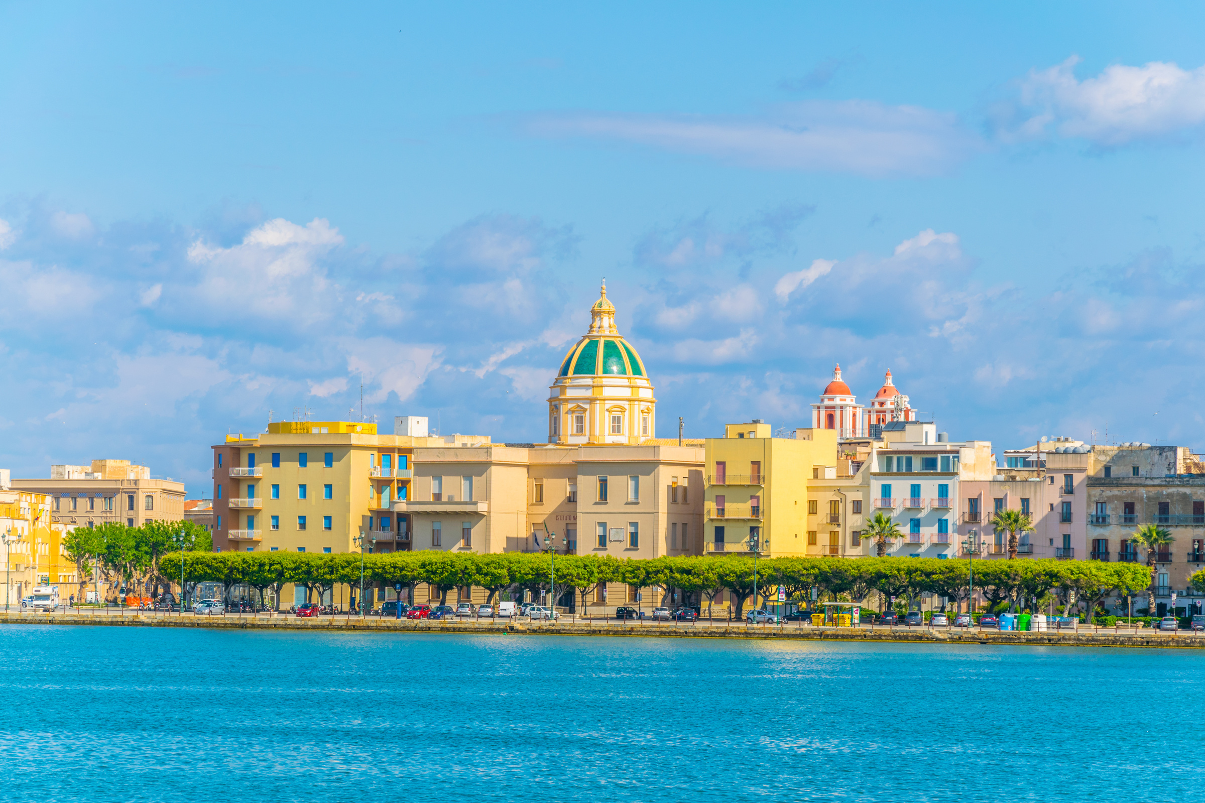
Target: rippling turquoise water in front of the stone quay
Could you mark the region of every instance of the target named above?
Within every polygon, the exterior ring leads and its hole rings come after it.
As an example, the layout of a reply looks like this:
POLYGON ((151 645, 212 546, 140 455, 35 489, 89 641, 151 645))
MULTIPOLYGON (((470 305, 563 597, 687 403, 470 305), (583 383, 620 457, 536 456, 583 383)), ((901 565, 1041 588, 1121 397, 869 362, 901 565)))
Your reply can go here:
POLYGON ((1105 801, 1205 654, 0 627, 4 801, 1105 801))

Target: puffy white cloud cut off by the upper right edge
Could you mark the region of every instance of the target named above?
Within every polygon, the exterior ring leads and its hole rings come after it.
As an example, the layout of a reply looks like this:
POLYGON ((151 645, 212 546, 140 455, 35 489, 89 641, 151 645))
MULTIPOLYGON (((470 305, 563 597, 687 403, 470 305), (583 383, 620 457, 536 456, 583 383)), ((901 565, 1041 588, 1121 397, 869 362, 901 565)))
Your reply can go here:
POLYGON ((1078 57, 1021 82, 1019 98, 1001 131, 1028 140, 1057 132, 1104 147, 1183 135, 1205 123, 1205 66, 1183 70, 1169 61, 1115 64, 1075 77, 1078 57))

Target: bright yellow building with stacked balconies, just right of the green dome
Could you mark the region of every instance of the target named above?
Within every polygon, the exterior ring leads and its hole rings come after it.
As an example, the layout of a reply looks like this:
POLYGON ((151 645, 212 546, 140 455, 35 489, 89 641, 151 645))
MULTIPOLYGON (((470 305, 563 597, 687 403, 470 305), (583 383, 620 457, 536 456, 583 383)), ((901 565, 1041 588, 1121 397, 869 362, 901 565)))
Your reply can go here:
POLYGON ((809 554, 809 482, 836 457, 835 430, 797 430, 775 438, 769 424, 729 424, 723 438, 706 441, 709 554, 809 554))

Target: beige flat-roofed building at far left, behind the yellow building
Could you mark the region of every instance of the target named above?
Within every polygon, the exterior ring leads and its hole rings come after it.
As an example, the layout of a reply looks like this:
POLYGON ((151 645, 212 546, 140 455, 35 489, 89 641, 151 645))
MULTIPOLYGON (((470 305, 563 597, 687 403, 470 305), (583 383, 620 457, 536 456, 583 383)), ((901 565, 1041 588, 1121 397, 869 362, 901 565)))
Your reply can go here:
POLYGON ((152 478, 147 466, 129 460, 51 466, 49 479, 14 479, 12 488, 49 497, 52 521, 67 527, 105 522, 136 527, 184 518, 184 484, 152 478))

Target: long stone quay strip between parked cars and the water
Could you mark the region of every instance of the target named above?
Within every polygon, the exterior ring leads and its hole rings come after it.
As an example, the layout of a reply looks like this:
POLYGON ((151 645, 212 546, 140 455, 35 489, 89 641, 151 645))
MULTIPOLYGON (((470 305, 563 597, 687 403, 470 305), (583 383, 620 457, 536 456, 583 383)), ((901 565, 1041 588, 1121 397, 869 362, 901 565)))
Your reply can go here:
POLYGON ((905 642, 933 644, 1028 644, 1054 646, 1205 648, 1205 633, 1165 632, 1146 627, 1080 626, 1076 631, 1018 632, 976 627, 871 626, 815 627, 803 622, 746 625, 706 619, 698 622, 652 622, 565 616, 557 622, 516 619, 424 620, 347 614, 300 618, 293 614, 199 616, 192 613, 136 612, 111 608, 70 613, 0 613, 0 625, 72 625, 112 627, 201 627, 389 633, 483 633, 498 636, 629 636, 648 638, 742 638, 788 640, 905 642))

